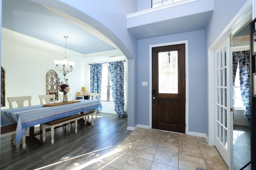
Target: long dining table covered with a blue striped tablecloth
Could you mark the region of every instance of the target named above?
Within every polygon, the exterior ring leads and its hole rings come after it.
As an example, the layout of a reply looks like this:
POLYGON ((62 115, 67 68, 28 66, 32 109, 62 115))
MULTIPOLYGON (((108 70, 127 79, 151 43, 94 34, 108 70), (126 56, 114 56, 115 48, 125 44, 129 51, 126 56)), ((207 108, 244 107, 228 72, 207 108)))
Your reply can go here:
POLYGON ((34 126, 92 109, 102 110, 100 100, 74 100, 67 104, 59 102, 54 105, 2 109, 1 127, 17 123, 15 145, 22 139, 29 127, 30 133, 29 136, 26 136, 26 140, 42 145, 42 141, 34 136, 34 126))

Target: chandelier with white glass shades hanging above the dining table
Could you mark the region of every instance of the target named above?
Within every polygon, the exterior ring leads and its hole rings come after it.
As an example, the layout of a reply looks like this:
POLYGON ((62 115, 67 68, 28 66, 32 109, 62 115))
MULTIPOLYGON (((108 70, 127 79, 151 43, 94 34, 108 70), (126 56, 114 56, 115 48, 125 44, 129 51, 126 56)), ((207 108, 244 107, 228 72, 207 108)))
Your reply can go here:
POLYGON ((55 69, 62 72, 64 77, 65 77, 66 74, 73 71, 73 66, 75 65, 75 62, 67 60, 68 58, 67 58, 67 54, 66 54, 66 49, 67 49, 67 38, 68 38, 68 36, 65 35, 64 38, 66 39, 65 57, 61 61, 54 60, 54 63, 56 64, 55 69), (69 69, 67 68, 67 64, 69 65, 69 69), (59 67, 59 65, 60 65, 60 67, 59 67))

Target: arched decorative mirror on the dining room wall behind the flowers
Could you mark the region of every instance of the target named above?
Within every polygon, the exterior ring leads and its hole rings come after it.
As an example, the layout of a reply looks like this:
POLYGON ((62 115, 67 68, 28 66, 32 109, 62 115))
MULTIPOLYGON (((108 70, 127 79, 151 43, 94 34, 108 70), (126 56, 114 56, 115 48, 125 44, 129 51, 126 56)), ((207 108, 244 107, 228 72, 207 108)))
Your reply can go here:
POLYGON ((58 80, 58 74, 54 70, 50 70, 46 74, 46 94, 55 94, 55 100, 59 99, 58 86, 56 83, 57 80, 58 80))

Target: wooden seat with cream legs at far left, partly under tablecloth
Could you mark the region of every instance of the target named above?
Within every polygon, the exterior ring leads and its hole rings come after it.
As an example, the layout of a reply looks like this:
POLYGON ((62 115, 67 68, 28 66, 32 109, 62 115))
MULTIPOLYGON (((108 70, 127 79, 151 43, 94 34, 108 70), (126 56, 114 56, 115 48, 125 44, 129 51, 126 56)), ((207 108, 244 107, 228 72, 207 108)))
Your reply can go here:
MULTIPOLYGON (((1 137, 5 137, 8 135, 13 135, 13 145, 15 145, 15 133, 16 133, 17 123, 6 125, 1 127, 1 137)), ((21 144, 21 142, 20 142, 21 144)), ((22 137, 22 148, 26 149, 26 136, 22 137)))

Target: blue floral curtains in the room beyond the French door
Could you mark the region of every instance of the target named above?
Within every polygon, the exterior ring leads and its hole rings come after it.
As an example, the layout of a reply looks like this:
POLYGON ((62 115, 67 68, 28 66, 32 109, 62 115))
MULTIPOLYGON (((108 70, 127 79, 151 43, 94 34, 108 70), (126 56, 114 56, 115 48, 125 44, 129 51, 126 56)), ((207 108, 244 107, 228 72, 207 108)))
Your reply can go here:
POLYGON ((250 51, 233 52, 233 105, 236 68, 239 65, 240 91, 245 106, 245 116, 250 121, 250 51))

